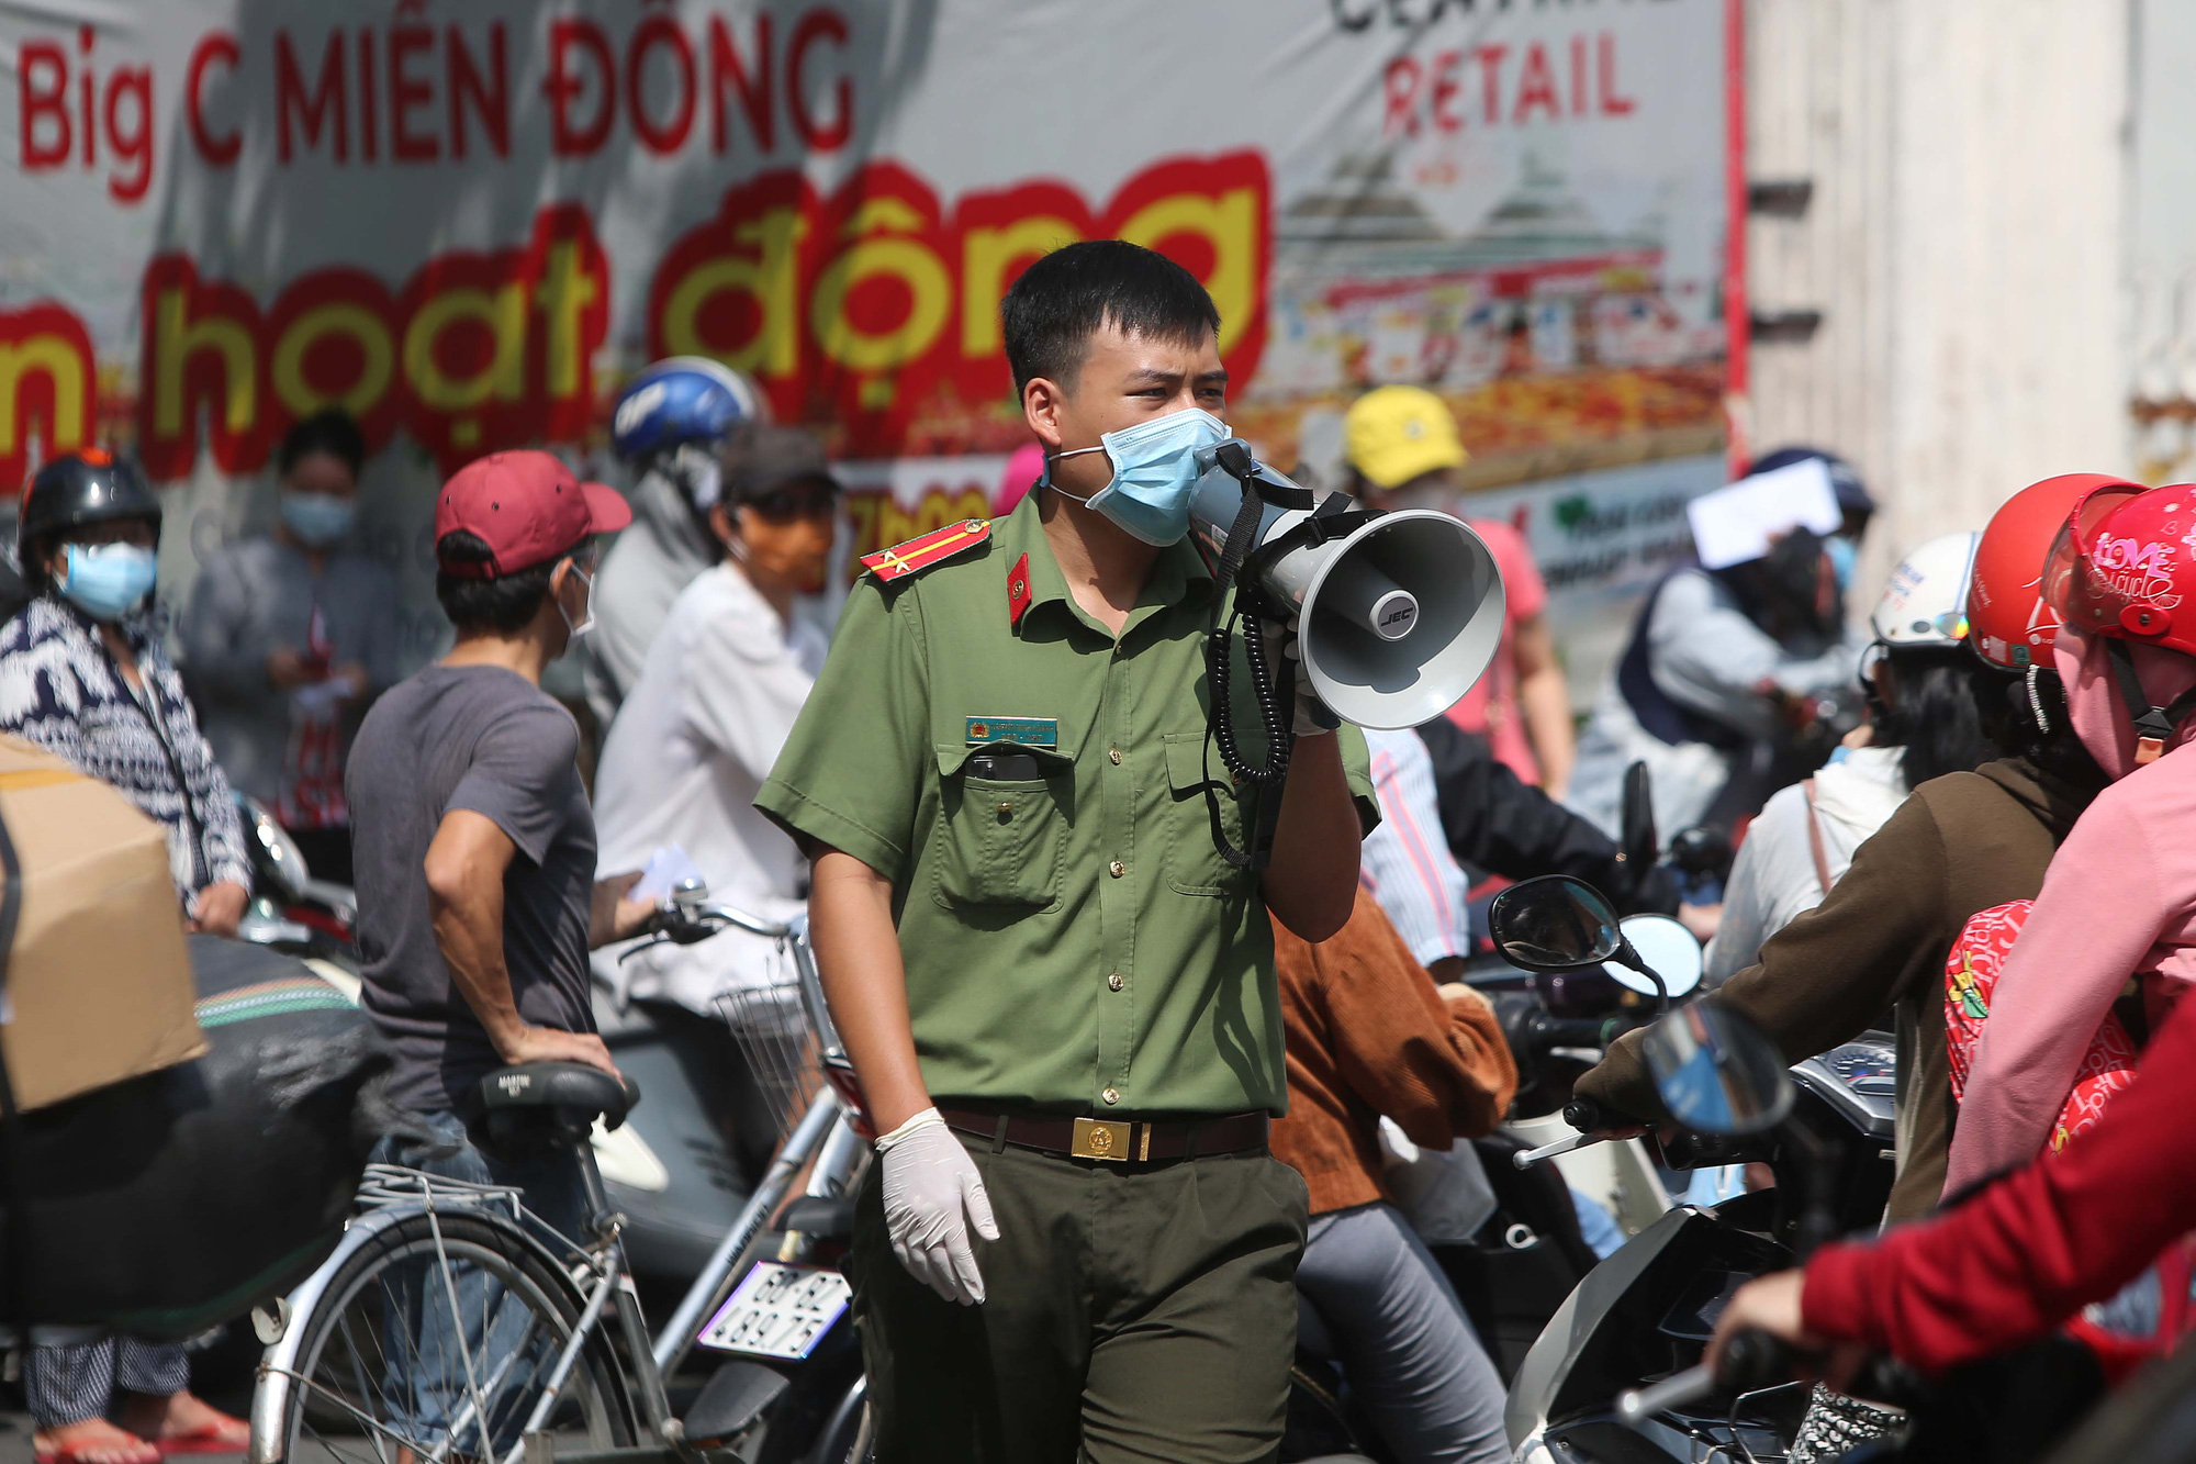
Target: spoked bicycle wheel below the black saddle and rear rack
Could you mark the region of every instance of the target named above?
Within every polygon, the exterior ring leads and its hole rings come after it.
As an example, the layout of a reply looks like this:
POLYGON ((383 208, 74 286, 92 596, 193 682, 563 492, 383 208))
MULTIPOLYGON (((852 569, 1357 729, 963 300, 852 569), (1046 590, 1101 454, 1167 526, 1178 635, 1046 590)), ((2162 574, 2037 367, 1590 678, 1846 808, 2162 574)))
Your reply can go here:
MULTIPOLYGON (((303 1326, 290 1464, 503 1457, 571 1341, 582 1299, 507 1220, 424 1211, 351 1255, 303 1326), (437 1235, 439 1231, 439 1235, 437 1235)), ((597 1326, 549 1413, 560 1446, 632 1442, 597 1326)))

